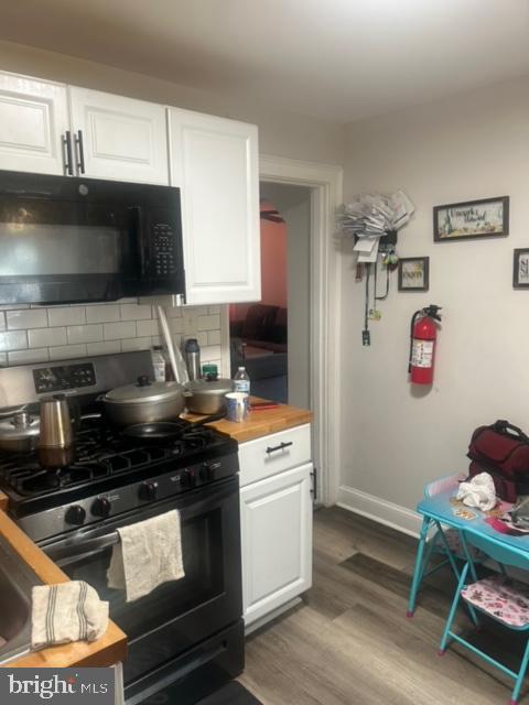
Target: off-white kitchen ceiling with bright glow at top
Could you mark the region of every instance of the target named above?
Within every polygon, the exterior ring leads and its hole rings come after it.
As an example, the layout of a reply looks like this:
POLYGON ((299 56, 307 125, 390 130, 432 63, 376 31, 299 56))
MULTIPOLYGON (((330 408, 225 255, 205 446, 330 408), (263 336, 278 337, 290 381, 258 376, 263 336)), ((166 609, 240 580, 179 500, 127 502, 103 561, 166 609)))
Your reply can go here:
POLYGON ((529 0, 3 0, 0 39, 334 122, 529 74, 529 0))

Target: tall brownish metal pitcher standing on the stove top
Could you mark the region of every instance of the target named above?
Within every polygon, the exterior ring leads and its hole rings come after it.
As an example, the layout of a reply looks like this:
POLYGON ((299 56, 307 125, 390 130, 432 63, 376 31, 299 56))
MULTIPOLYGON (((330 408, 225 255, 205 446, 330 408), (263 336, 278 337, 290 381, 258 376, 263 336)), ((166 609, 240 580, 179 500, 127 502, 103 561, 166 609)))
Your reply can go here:
POLYGON ((42 467, 60 468, 74 459, 74 429, 65 394, 41 399, 39 460, 42 467))

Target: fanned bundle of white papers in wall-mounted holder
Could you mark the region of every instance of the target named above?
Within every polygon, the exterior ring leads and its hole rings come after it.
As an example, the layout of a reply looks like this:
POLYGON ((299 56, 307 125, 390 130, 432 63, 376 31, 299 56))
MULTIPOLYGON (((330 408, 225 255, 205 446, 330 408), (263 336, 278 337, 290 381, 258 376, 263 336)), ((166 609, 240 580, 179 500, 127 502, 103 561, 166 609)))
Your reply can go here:
POLYGON ((380 238, 388 230, 400 230, 414 209, 403 191, 391 196, 363 194, 343 207, 338 225, 346 237, 358 238, 358 262, 376 262, 380 238))

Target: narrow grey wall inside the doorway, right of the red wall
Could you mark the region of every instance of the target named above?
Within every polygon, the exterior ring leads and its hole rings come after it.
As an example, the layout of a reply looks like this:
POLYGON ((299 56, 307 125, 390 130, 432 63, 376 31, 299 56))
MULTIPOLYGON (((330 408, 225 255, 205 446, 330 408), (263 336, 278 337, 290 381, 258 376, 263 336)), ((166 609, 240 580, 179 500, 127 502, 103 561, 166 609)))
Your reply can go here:
POLYGON ((311 189, 261 183, 287 221, 289 403, 311 408, 311 189))

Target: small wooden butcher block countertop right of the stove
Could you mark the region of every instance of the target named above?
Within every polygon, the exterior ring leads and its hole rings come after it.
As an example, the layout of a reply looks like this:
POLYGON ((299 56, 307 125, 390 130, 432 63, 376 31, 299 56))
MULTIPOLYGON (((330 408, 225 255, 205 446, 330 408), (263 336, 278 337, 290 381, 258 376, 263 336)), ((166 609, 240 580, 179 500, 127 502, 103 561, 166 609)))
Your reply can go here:
MULTIPOLYGON (((264 402, 263 399, 252 397, 251 403, 264 402)), ((203 416, 195 414, 186 414, 185 419, 190 421, 198 421, 203 416)), ((311 423, 312 412, 306 409, 298 409, 296 406, 290 406, 289 404, 279 404, 274 409, 256 409, 250 411, 248 419, 241 423, 235 423, 233 421, 215 421, 208 426, 225 433, 239 443, 246 441, 253 441, 253 438, 260 438, 261 436, 268 436, 271 433, 278 433, 279 431, 285 431, 293 426, 301 426, 305 423, 311 423)))

